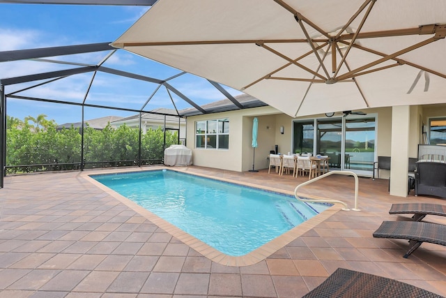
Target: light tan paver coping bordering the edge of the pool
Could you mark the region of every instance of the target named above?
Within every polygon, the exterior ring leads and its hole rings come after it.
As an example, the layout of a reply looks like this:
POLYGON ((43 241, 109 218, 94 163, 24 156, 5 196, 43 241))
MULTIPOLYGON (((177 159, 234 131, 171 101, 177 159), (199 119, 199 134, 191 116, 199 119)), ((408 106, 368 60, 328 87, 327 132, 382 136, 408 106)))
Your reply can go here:
MULTIPOLYGON (((171 236, 176 237, 180 241, 182 241, 187 246, 190 246, 198 253, 201 253, 203 256, 208 258, 209 260, 212 260, 213 262, 217 262, 220 265, 225 266, 235 266, 235 267, 243 267, 243 266, 249 266, 254 265, 258 262, 261 262, 262 260, 265 260, 270 255, 278 251, 280 248, 283 248, 287 244, 290 244, 292 241, 294 241, 296 238, 302 236, 302 234, 305 234, 305 232, 311 230, 312 228, 316 227, 319 223, 322 223, 327 218, 330 218, 333 214, 336 214, 338 211, 341 210, 341 207, 337 204, 334 204, 332 207, 329 207, 328 209, 325 209, 321 212, 321 214, 318 214, 312 218, 309 218, 307 221, 301 223, 300 225, 296 226, 295 228, 292 228, 288 232, 284 232, 280 236, 276 237, 275 239, 272 239, 266 244, 263 244, 259 248, 256 248, 254 251, 247 253, 246 255, 240 255, 240 256, 232 256, 232 255, 226 255, 225 253, 222 253, 220 251, 217 251, 212 246, 209 246, 208 244, 204 243, 203 241, 193 237, 190 234, 187 234, 187 232, 184 232, 180 228, 176 227, 176 225, 173 225, 169 223, 168 221, 165 221, 164 219, 160 218, 159 216, 153 214, 151 211, 148 211, 144 207, 139 206, 139 204, 133 202, 132 200, 125 198, 123 195, 117 193, 116 191, 113 191, 111 188, 108 188, 104 184, 101 184, 99 181, 96 181, 91 176, 97 175, 97 174, 113 174, 113 173, 123 173, 123 172, 146 172, 146 171, 155 171, 155 170, 173 170, 176 172, 183 172, 187 174, 192 174, 199 177, 206 177, 206 175, 203 174, 197 174, 192 172, 187 172, 187 167, 166 167, 166 166, 153 166, 153 167, 141 167, 137 169, 107 169, 107 170, 98 170, 94 173, 92 172, 83 172, 81 174, 84 179, 90 181, 95 186, 98 186, 102 191, 105 191, 105 193, 108 193, 113 198, 116 198, 119 202, 122 202, 127 207, 132 209, 133 211, 137 212, 141 216, 144 216, 148 219, 148 221, 151 221, 155 225, 157 225, 162 230, 165 230, 171 236)), ((215 177, 211 178, 215 179, 215 177)), ((238 184, 240 186, 249 186, 252 188, 262 189, 266 191, 273 191, 276 193, 284 193, 286 195, 293 195, 292 192, 289 191, 282 191, 277 188, 270 188, 270 187, 262 187, 260 188, 258 185, 249 184, 245 182, 240 181, 234 181, 231 179, 215 179, 220 181, 225 181, 233 184, 238 184)))

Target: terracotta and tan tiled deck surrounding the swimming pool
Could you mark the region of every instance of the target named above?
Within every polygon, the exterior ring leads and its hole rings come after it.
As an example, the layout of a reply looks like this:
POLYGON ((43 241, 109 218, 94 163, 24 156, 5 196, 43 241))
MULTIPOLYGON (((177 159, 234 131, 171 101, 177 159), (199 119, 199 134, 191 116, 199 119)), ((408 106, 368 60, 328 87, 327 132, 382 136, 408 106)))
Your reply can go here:
MULTIPOLYGON (((160 167, 142 167, 142 170, 160 167)), ((171 168, 292 193, 307 177, 171 168)), ((394 278, 446 296, 446 247, 376 239, 392 203, 444 199, 394 197, 388 181, 360 178, 361 211, 323 212, 262 255, 225 258, 175 234, 143 209, 92 183, 89 170, 10 176, 0 189, 0 297, 301 297, 344 267, 394 278), (175 236, 172 236, 174 234, 175 236), (205 256, 207 255, 207 257, 205 256)), ((353 178, 333 175, 302 188, 353 206, 353 178)), ((446 224, 441 216, 424 221, 446 224)))

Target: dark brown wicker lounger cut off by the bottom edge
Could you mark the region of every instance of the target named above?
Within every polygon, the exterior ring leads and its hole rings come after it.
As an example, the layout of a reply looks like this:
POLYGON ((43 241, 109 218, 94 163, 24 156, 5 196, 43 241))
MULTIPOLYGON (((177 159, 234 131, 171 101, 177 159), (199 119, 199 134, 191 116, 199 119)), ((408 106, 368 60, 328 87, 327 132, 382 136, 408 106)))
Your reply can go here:
POLYGON ((439 298, 433 292, 414 285, 359 271, 338 268, 321 285, 302 298, 321 297, 426 297, 439 298))

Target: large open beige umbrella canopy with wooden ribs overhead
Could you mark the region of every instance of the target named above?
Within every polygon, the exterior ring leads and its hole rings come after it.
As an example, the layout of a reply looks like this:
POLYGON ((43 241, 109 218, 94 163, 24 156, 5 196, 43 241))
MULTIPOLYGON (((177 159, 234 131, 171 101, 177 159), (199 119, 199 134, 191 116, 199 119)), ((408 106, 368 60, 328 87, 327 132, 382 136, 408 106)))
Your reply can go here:
POLYGON ((159 0, 112 45, 292 117, 445 102, 444 0, 159 0))

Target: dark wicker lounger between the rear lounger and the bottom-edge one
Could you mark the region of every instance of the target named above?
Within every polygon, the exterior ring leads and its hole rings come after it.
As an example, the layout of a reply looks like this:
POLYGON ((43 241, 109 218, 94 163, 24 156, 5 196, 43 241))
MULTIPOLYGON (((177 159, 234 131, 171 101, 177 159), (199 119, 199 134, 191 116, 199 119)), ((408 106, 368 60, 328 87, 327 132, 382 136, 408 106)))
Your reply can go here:
POLYGON ((374 232, 376 238, 408 239, 409 249, 404 258, 413 253, 423 242, 446 246, 446 225, 420 221, 383 221, 374 232))

